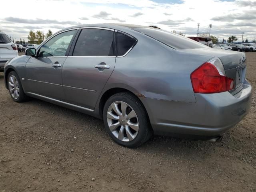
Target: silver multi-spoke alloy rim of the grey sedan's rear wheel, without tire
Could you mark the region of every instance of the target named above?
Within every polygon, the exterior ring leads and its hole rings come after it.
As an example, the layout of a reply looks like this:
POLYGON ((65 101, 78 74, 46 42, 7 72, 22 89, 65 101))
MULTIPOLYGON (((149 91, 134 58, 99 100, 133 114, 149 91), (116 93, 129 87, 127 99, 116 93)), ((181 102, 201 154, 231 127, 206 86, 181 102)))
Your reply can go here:
POLYGON ((132 141, 138 134, 138 117, 126 102, 116 101, 108 107, 107 122, 112 134, 121 141, 132 141))

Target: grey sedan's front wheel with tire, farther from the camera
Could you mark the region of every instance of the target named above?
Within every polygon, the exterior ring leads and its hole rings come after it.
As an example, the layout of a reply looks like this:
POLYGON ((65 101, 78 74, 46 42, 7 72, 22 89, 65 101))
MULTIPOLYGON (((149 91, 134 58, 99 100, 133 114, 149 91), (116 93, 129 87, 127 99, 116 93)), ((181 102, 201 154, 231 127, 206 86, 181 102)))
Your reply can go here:
POLYGON ((28 99, 16 72, 12 71, 8 74, 7 84, 12 100, 15 102, 24 102, 28 99))

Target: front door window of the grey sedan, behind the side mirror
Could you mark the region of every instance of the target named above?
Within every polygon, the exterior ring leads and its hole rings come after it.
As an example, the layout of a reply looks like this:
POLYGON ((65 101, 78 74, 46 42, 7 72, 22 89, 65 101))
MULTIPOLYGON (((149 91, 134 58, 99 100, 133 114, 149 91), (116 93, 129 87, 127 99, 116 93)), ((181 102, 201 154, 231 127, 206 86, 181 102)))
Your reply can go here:
MULTIPOLYGON (((48 40, 39 50, 39 57, 56 57, 65 56, 69 45, 76 30, 71 30, 58 34, 48 40)), ((28 45, 29 46, 29 45, 28 45)))

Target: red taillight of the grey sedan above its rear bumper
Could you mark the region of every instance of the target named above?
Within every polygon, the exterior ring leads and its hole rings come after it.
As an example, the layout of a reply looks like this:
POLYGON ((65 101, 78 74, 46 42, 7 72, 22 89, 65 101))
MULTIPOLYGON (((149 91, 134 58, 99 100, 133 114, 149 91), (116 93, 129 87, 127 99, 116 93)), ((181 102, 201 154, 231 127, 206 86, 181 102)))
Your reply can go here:
POLYGON ((219 66, 206 62, 192 72, 190 78, 195 93, 219 93, 234 88, 234 80, 220 75, 216 67, 219 66))

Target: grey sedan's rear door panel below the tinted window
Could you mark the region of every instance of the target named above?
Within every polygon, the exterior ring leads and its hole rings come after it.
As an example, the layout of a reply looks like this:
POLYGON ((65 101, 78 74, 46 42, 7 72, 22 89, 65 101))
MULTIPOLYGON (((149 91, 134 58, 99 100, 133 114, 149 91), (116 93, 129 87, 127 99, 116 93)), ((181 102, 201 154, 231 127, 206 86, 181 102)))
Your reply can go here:
POLYGON ((68 102, 94 109, 115 66, 115 56, 69 56, 62 68, 63 89, 68 102), (110 68, 95 68, 96 65, 110 68))

